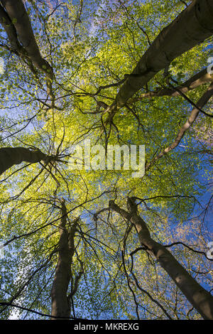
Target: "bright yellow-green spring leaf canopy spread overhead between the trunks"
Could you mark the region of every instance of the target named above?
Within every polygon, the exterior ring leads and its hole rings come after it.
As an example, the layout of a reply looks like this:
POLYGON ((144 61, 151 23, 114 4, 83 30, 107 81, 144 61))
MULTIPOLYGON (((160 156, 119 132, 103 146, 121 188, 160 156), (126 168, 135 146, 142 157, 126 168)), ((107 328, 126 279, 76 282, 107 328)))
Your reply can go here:
MULTIPOLYGON (((104 109, 97 112, 97 102, 107 105, 114 102, 119 85, 100 91, 99 87, 119 82, 131 73, 149 43, 182 11, 184 4, 177 0, 86 1, 82 23, 77 23, 73 31, 78 6, 64 1, 53 11, 48 2, 27 1, 40 52, 53 65, 55 105, 47 96, 43 73, 35 71, 33 74, 23 59, 8 50, 0 53, 6 68, 0 76, 1 147, 34 147, 49 156, 60 156, 60 161, 51 161, 48 165, 41 161, 13 166, 1 176, 0 241, 13 241, 6 245, 5 257, 0 260, 0 299, 12 299, 16 304, 50 314, 50 291, 58 261, 60 207, 57 200, 65 198, 67 225, 75 217, 81 219, 75 236, 69 292, 80 271, 80 260, 84 263, 84 275, 73 298, 72 316, 136 319, 134 293, 141 305, 141 318, 166 318, 133 281, 133 293, 128 288, 121 249, 129 222, 108 211, 96 219, 94 215, 108 208, 111 199, 116 199, 116 203, 126 209, 128 195, 153 198, 138 206, 153 237, 163 244, 183 237, 174 230, 185 226, 197 199, 207 191, 208 165, 199 152, 208 150, 209 142, 204 138, 200 141, 200 134, 209 129, 211 120, 201 117, 199 129, 196 125, 192 127, 181 147, 160 159, 143 178, 131 178, 132 171, 123 170, 72 171, 67 162, 70 147, 82 144, 84 139, 90 139, 92 145, 103 146, 106 143, 144 144, 146 161, 151 161, 157 151, 174 141, 192 109, 182 97, 129 102, 116 113, 110 132, 109 124, 104 126, 109 115, 104 109), (102 11, 97 11, 99 5, 102 11), (106 133, 109 134, 107 141, 106 133), (182 197, 167 198, 176 195, 182 197)), ((5 43, 4 33, 1 33, 1 41, 5 43)), ((206 67, 208 54, 207 41, 173 61, 169 76, 179 84, 185 82, 206 67)), ((167 87, 166 80, 161 71, 146 88, 155 91, 167 87)), ((145 93, 146 88, 137 96, 145 93)), ((206 85, 197 87, 188 96, 197 102, 206 88, 206 85)), ((211 111, 209 105, 206 109, 211 111)), ((190 226, 184 237, 190 235, 189 230, 190 226)), ((197 237, 197 230, 192 241, 204 249, 208 237, 197 237)), ((188 240, 186 237, 186 243, 188 240)), ((124 256, 129 272, 129 254, 139 246, 136 232, 131 230, 124 256)), ((202 284, 209 284, 211 271, 203 257, 201 260, 200 255, 188 254, 186 249, 179 248, 174 253, 187 264, 189 271, 198 267, 200 271, 209 271, 202 279, 202 284)), ((200 318, 196 311, 188 314, 190 304, 145 253, 135 255, 134 271, 143 289, 160 301, 173 318, 200 318)), ((14 316, 14 312, 6 308, 1 318, 9 316, 14 316)), ((18 316, 44 318, 20 310, 18 316)))

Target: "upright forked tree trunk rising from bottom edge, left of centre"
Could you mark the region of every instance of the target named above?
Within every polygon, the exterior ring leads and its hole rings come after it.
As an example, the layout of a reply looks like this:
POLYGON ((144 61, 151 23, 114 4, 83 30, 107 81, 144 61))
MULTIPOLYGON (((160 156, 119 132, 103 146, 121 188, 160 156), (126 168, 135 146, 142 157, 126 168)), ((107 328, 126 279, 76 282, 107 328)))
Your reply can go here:
MULTIPOLYGON (((71 279, 71 264, 72 257, 75 253, 75 231, 77 227, 77 220, 73 222, 70 232, 67 231, 67 209, 65 202, 61 205, 61 221, 59 225, 60 240, 58 249, 58 264, 55 270, 55 277, 51 291, 52 298, 52 313, 54 317, 60 319, 68 318, 70 316, 70 299, 67 296, 67 289, 71 279)), ((55 318, 52 318, 55 320, 55 318)))

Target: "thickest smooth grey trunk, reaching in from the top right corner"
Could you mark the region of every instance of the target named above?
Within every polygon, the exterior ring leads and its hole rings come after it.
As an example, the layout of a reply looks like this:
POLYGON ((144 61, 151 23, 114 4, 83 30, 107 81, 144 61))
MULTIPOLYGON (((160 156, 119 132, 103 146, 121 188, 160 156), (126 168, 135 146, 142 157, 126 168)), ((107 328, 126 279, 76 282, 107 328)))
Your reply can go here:
MULTIPOLYGON (((213 33, 213 1, 195 0, 160 32, 139 60, 136 68, 121 86, 116 96, 116 108, 123 107, 156 73, 175 58, 213 33)), ((112 108, 112 109, 115 109, 112 108)))

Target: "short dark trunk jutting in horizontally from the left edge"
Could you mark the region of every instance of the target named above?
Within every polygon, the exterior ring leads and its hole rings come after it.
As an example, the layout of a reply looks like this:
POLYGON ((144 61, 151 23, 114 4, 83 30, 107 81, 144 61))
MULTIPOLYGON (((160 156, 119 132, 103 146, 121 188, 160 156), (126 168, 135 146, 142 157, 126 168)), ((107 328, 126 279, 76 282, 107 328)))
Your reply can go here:
POLYGON ((32 151, 25 147, 3 147, 0 149, 0 175, 13 165, 22 162, 36 163, 48 158, 40 150, 32 151))

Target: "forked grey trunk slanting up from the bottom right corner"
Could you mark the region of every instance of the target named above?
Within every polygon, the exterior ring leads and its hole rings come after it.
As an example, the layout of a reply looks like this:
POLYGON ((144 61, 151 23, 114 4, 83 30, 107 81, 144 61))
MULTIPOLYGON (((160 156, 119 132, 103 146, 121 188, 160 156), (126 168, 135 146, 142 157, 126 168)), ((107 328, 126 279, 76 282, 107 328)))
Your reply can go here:
POLYGON ((118 212, 126 220, 132 222, 138 232, 138 238, 146 252, 158 260, 160 266, 168 273, 171 279, 185 295, 188 301, 196 308, 202 318, 213 320, 213 296, 190 276, 185 268, 173 257, 168 249, 151 237, 146 222, 138 215, 135 198, 128 198, 129 212, 109 201, 109 208, 118 212))

